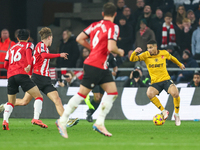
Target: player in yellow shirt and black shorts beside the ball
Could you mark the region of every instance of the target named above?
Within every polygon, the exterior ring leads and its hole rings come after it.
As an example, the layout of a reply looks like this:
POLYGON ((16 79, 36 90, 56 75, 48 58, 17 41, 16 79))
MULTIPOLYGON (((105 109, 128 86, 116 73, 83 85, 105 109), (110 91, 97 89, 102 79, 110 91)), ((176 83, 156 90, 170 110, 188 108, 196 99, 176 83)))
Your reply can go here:
POLYGON ((142 49, 139 47, 136 48, 135 51, 131 54, 130 61, 145 62, 151 77, 151 86, 149 86, 147 89, 147 96, 151 102, 162 111, 164 119, 167 119, 169 112, 165 110, 156 95, 159 95, 163 89, 172 95, 175 109, 175 124, 176 126, 180 126, 181 121, 179 117, 179 91, 169 76, 166 67, 166 59, 171 60, 173 63, 177 64, 182 70, 185 69, 185 66, 175 57, 169 54, 166 50, 158 50, 157 42, 155 40, 151 40, 147 43, 147 50, 148 51, 139 54, 142 52, 142 49))

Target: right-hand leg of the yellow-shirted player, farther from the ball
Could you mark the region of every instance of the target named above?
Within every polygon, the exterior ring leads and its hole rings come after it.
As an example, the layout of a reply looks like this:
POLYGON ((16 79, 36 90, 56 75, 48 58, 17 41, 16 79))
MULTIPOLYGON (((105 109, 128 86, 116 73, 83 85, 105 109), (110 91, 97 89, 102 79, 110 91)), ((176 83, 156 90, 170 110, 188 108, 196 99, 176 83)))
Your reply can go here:
POLYGON ((180 126, 181 120, 179 116, 179 108, 180 108, 180 96, 177 87, 174 84, 171 84, 168 88, 168 93, 172 95, 174 101, 174 118, 175 118, 175 125, 180 126))

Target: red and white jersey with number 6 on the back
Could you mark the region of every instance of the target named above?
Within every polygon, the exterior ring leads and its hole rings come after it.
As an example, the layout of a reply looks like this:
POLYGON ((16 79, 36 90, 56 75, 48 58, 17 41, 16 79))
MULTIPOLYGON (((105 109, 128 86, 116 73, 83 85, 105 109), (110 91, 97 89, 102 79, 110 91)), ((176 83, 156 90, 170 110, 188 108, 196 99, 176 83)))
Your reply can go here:
POLYGON ((83 32, 90 37, 90 55, 85 59, 84 64, 100 69, 107 69, 109 57, 108 40, 115 40, 119 36, 119 27, 109 20, 94 22, 83 32))

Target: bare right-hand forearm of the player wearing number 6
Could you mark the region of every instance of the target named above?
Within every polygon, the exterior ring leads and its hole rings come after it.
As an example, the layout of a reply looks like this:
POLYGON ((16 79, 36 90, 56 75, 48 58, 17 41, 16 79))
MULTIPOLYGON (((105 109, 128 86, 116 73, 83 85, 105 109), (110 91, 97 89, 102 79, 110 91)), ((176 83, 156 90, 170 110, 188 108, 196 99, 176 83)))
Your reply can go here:
POLYGON ((124 56, 124 50, 117 47, 115 40, 108 40, 108 50, 112 53, 118 54, 119 56, 124 56))

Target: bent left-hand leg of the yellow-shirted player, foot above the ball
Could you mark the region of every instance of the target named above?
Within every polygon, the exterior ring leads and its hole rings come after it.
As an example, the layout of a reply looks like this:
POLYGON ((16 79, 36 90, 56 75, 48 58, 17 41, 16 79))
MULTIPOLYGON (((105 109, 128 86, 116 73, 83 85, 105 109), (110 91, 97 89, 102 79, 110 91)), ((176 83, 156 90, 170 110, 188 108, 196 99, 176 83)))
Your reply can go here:
POLYGON ((150 101, 162 112, 164 119, 167 119, 169 112, 165 110, 163 105, 160 103, 160 100, 156 97, 162 89, 158 86, 158 84, 153 84, 147 89, 147 97, 150 101))

